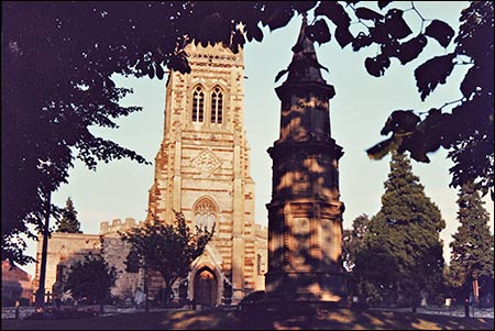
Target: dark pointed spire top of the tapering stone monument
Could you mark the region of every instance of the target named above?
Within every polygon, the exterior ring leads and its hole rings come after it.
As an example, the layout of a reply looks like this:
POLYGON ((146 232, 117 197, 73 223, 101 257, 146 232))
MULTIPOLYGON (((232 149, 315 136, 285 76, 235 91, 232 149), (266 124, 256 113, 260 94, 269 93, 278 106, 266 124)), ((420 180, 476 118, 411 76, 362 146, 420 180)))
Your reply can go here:
MULTIPOLYGON (((315 42, 308 36, 308 19, 307 14, 302 13, 302 24, 300 26, 299 36, 297 37, 296 45, 293 47, 294 56, 288 68, 279 73, 288 73, 286 82, 296 81, 320 81, 324 82, 321 77, 320 69, 326 69, 318 63, 317 54, 315 51, 315 42)), ((278 77, 278 78, 279 78, 278 77)))

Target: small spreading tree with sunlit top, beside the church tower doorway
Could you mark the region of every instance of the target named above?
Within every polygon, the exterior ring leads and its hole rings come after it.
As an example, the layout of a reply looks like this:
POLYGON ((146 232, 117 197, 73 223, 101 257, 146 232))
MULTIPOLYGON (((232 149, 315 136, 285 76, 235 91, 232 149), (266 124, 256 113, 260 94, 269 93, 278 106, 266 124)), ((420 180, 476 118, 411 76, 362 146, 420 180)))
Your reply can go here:
POLYGON ((183 212, 176 211, 175 216, 175 224, 154 220, 121 233, 122 240, 131 244, 125 261, 128 271, 160 272, 167 294, 175 280, 187 276, 191 263, 202 254, 215 232, 215 225, 211 230, 196 227, 193 232, 183 212))

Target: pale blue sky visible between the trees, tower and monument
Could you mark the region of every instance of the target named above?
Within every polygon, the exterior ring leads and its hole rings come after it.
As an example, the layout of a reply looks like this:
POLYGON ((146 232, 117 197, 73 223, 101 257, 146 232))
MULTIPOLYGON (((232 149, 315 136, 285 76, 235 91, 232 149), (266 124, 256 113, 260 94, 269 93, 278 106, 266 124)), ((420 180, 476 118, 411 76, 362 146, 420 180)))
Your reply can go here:
MULTIPOLYGON (((376 3, 376 2, 373 2, 376 3)), ((403 2, 404 9, 410 2, 403 2)), ((441 19, 457 31, 459 13, 466 2, 431 1, 415 2, 416 8, 426 19, 441 19)), ((408 22, 419 24, 420 20, 414 11, 404 14, 408 22)), ((311 22, 311 16, 309 18, 311 22)), ((276 74, 290 63, 292 46, 296 43, 300 16, 279 30, 270 32, 263 29, 262 43, 248 43, 244 47, 244 111, 245 130, 251 146, 251 172, 256 184, 255 221, 267 224, 265 205, 271 199, 272 159, 266 150, 278 139, 280 102, 274 88, 286 77, 275 82, 276 74)), ((426 22, 428 24, 428 22, 426 22)), ((353 25, 354 26, 354 25, 353 25)), ((358 27, 358 26, 356 26, 358 27)), ((413 26, 414 27, 414 26, 413 26)), ((413 29, 417 31, 417 29, 413 29)), ((323 78, 336 88, 336 97, 330 100, 330 123, 332 137, 343 147, 344 155, 340 159, 340 200, 345 203, 343 227, 351 228, 352 221, 360 214, 374 216, 381 208, 384 194, 383 183, 387 179, 391 156, 382 161, 372 161, 365 150, 386 139, 380 135, 387 117, 394 110, 414 109, 416 111, 441 107, 448 101, 461 97, 459 84, 466 66, 457 66, 449 77, 448 84, 438 87, 435 92, 421 102, 417 92, 413 71, 427 58, 443 55, 452 51, 451 44, 442 48, 435 40, 429 38, 421 56, 406 66, 397 59, 381 78, 370 76, 364 68, 364 58, 375 56, 376 46, 365 52, 353 53, 348 46, 341 49, 332 40, 328 44, 316 46, 319 63, 329 69, 322 70, 323 78)), ((163 80, 145 78, 124 78, 114 76, 119 86, 132 88, 134 93, 122 100, 124 106, 141 106, 143 110, 127 118, 117 120, 119 129, 107 130, 91 128, 91 132, 110 139, 122 146, 134 150, 147 161, 154 162, 156 152, 163 140, 165 84, 163 80)), ((450 260, 448 244, 459 227, 455 205, 458 191, 449 187, 451 176, 449 168, 452 162, 446 158, 447 152, 440 150, 429 154, 431 162, 421 164, 411 162, 413 172, 419 176, 425 192, 439 207, 447 228, 440 236, 444 242, 443 256, 450 260)), ((143 220, 146 216, 147 190, 153 184, 154 165, 143 165, 130 159, 99 164, 96 172, 89 170, 76 161, 69 170, 69 184, 62 185, 52 195, 58 206, 65 206, 72 197, 78 211, 81 230, 85 233, 98 233, 100 222, 113 219, 134 218, 143 220)), ((494 229, 493 201, 486 197, 484 206, 491 213, 491 229, 494 229)), ((54 220, 52 220, 54 223, 54 220)), ((36 242, 29 244, 26 253, 35 255, 36 242)), ((34 264, 24 266, 34 275, 34 264)))

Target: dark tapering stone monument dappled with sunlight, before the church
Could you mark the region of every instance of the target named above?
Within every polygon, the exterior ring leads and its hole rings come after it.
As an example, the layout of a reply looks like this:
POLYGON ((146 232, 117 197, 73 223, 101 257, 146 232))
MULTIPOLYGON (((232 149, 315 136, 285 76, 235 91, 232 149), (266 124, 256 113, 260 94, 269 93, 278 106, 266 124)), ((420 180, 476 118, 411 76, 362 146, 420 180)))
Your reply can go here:
POLYGON ((268 148, 273 159, 268 209, 266 304, 284 307, 345 304, 339 158, 330 133, 329 99, 314 42, 302 21, 282 101, 280 134, 268 148), (304 302, 304 306, 300 306, 304 302))

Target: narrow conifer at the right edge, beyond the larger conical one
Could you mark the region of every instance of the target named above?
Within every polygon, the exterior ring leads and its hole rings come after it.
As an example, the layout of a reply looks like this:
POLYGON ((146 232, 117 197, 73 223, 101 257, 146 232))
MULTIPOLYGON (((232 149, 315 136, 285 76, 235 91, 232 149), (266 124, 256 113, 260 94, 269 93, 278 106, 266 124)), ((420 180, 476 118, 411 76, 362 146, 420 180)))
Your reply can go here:
POLYGON ((450 243, 452 251, 449 283, 468 297, 473 282, 480 278, 493 282, 494 236, 488 228, 488 213, 473 184, 462 186, 458 205, 458 219, 461 224, 450 243))

